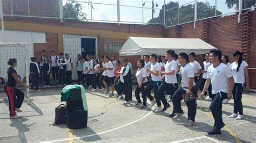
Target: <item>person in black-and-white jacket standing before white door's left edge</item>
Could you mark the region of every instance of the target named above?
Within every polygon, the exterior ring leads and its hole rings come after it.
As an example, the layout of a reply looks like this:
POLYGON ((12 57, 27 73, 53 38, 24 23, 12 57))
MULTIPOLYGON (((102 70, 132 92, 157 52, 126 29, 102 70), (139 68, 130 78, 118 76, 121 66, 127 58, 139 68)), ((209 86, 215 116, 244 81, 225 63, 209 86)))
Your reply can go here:
POLYGON ((64 59, 63 53, 59 54, 59 59, 58 59, 58 66, 59 66, 59 87, 62 85, 62 80, 64 86, 66 86, 66 59, 64 59))

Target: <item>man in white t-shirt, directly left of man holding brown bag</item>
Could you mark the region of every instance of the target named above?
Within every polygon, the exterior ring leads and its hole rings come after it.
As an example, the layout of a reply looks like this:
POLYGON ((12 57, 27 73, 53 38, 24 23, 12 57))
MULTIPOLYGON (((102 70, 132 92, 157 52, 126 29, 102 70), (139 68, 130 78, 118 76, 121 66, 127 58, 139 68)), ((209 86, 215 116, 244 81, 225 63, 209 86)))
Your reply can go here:
POLYGON ((158 97, 155 97, 157 101, 157 109, 154 110, 154 112, 164 112, 171 107, 171 105, 167 103, 164 95, 166 92, 168 95, 172 96, 176 90, 175 84, 177 83, 176 71, 178 64, 175 60, 173 60, 174 53, 175 52, 172 49, 169 49, 165 53, 165 58, 168 60, 164 67, 165 71, 159 71, 159 74, 163 75, 162 78, 165 80, 163 83, 161 83, 160 87, 157 90, 158 97), (163 110, 161 109, 161 102, 164 105, 163 110))

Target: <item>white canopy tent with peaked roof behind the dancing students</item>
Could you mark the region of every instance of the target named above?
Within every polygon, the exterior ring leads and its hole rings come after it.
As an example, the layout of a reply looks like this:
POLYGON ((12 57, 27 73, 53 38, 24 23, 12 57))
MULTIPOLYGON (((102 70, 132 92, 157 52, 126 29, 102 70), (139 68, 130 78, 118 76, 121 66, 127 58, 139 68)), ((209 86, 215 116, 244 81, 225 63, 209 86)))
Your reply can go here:
POLYGON ((120 49, 120 56, 127 55, 164 55, 168 49, 176 53, 205 54, 215 49, 212 45, 199 38, 147 38, 129 37, 120 49))

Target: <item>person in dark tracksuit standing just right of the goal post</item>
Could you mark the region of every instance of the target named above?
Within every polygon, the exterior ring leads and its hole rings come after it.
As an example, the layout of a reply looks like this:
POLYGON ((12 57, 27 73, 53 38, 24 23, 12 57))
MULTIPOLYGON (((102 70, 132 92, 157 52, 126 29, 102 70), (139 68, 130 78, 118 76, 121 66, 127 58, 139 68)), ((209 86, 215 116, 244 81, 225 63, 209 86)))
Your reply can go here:
POLYGON ((32 57, 31 59, 31 63, 30 63, 30 75, 32 78, 32 85, 30 87, 30 92, 39 92, 40 90, 38 90, 38 84, 39 84, 39 78, 40 78, 40 70, 39 67, 36 63, 36 57, 32 57), (33 90, 34 87, 36 86, 36 90, 33 90))

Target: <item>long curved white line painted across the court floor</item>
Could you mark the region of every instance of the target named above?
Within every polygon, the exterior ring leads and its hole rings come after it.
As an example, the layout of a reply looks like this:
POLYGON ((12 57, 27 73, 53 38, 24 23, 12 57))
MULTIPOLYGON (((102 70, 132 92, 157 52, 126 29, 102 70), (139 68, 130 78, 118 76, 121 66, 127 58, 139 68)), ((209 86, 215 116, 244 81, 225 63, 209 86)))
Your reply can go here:
POLYGON ((88 138, 88 137, 92 137, 92 136, 95 136, 95 135, 99 135, 99 134, 111 132, 111 131, 114 131, 114 130, 118 130, 119 128, 123 128, 123 127, 129 126, 129 125, 131 125, 131 124, 134 124, 134 123, 136 123, 136 122, 138 122, 138 121, 140 121, 140 120, 146 118, 147 116, 150 116, 151 113, 153 113, 152 110, 151 110, 149 113, 147 113, 147 115, 145 115, 144 117, 142 117, 142 118, 140 118, 140 119, 134 120, 134 121, 132 121, 132 122, 130 122, 130 123, 127 123, 127 124, 125 124, 125 125, 122 125, 122 126, 119 126, 119 127, 116 127, 116 128, 112 128, 112 129, 107 130, 107 131, 104 131, 104 132, 94 133, 94 134, 85 135, 85 136, 76 137, 76 138, 66 138, 66 139, 50 140, 50 141, 42 141, 42 142, 60 142, 60 141, 67 141, 67 140, 71 140, 71 139, 75 140, 75 139, 88 138))

